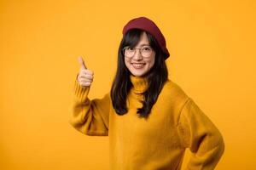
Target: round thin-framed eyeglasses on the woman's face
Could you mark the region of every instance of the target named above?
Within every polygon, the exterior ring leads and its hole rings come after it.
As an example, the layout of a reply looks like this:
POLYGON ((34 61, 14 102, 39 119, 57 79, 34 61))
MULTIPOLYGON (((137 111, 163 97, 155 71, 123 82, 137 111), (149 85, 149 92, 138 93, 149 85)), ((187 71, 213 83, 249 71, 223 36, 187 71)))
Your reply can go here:
POLYGON ((139 49, 140 54, 142 54, 143 58, 150 58, 152 52, 154 51, 153 48, 150 46, 143 46, 142 48, 131 48, 129 46, 123 48, 123 54, 125 57, 133 57, 134 54, 136 53, 136 49, 139 49))

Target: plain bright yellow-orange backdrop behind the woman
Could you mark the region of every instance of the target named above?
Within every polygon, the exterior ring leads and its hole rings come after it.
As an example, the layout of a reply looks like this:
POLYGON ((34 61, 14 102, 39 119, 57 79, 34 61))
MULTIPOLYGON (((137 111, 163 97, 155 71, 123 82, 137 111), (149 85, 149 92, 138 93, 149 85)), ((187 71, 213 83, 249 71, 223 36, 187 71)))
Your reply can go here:
POLYGON ((160 27, 169 78, 224 135, 216 169, 256 168, 253 0, 0 2, 0 169, 108 170, 108 137, 67 122, 73 82, 83 55, 90 99, 110 90, 122 28, 138 16, 160 27))

